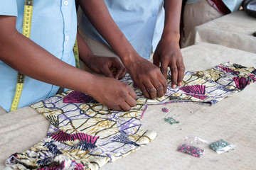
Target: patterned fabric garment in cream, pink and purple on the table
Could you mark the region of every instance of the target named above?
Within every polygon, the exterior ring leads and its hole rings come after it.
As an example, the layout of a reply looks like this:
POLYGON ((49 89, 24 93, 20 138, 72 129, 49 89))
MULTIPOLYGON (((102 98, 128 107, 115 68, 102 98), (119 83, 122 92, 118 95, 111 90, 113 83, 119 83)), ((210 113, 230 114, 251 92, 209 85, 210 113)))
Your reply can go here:
MULTIPOLYGON (((183 86, 169 86, 166 95, 156 100, 144 98, 127 74, 122 81, 138 95, 137 106, 131 111, 112 111, 100 103, 77 103, 88 98, 88 102, 93 101, 77 91, 47 98, 31 107, 50 120, 48 136, 26 152, 11 155, 6 165, 16 169, 100 169, 154 140, 156 132, 141 128, 147 105, 214 104, 254 82, 255 73, 253 67, 230 62, 206 71, 186 72, 183 86)), ((170 84, 170 72, 168 81, 170 84)))

